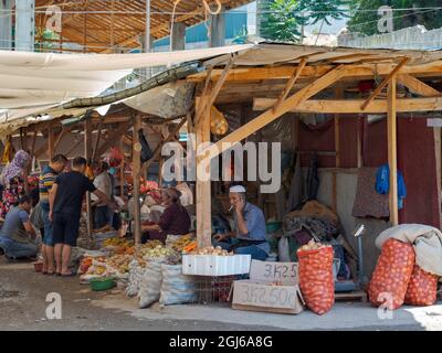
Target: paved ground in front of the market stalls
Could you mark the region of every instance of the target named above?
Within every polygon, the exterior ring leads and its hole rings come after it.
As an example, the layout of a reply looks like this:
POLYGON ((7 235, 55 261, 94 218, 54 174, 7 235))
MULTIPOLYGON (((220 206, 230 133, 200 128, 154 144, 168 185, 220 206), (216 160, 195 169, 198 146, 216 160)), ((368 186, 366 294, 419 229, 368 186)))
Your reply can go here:
POLYGON ((337 303, 325 315, 244 312, 227 306, 171 306, 138 309, 118 290, 93 292, 78 278, 35 274, 30 264, 0 258, 0 330, 442 330, 442 302, 403 307, 392 320, 362 303, 337 303), (62 297, 62 320, 45 319, 49 292, 62 297), (217 321, 213 321, 214 318, 217 321))

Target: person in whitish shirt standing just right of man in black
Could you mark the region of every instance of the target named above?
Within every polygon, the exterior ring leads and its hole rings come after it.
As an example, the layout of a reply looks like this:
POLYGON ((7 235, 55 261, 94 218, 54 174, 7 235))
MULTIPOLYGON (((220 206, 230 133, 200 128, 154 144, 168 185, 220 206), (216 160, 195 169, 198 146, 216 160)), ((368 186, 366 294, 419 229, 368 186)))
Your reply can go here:
MULTIPOLYGON (((106 162, 101 162, 94 165, 94 185, 97 190, 103 192, 107 200, 112 197, 112 182, 107 170, 109 165, 106 162)), ((110 225, 109 220, 109 206, 106 203, 99 201, 94 194, 92 194, 92 206, 94 210, 94 229, 99 229, 106 225, 110 225)))

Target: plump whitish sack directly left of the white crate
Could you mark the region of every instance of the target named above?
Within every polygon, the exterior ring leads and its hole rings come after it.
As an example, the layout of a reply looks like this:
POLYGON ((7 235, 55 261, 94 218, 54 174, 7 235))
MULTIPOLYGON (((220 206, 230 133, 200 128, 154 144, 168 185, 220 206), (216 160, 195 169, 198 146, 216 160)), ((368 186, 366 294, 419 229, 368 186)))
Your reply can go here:
POLYGON ((182 275, 182 265, 161 265, 162 285, 159 303, 161 306, 196 302, 197 281, 192 276, 182 275))

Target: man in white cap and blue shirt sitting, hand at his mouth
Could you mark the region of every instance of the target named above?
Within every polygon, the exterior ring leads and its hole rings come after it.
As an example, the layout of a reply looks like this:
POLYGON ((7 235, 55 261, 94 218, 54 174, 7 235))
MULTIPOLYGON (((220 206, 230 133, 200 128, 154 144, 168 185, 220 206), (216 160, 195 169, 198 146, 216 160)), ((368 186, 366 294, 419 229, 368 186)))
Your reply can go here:
POLYGON ((230 204, 234 208, 235 232, 217 234, 214 246, 233 250, 234 254, 249 254, 252 259, 265 260, 270 253, 270 244, 265 238, 265 218, 257 206, 245 201, 245 188, 231 186, 230 204))

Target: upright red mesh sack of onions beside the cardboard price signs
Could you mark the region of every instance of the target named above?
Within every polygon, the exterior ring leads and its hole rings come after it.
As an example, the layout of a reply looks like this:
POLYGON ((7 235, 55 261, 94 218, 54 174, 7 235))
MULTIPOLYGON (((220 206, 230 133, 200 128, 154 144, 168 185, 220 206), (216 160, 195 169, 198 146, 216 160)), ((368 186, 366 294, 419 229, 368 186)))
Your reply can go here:
POLYGON ((333 276, 333 247, 318 250, 297 252, 299 259, 299 287, 305 303, 313 312, 322 315, 335 303, 333 276))

